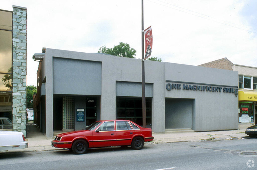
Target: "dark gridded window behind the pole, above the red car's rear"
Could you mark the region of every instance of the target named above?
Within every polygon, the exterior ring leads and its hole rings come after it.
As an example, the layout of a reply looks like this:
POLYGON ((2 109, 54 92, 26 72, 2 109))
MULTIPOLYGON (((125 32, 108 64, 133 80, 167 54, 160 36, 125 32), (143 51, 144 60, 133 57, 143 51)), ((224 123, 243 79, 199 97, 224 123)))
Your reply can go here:
MULTIPOLYGON (((152 125, 152 101, 146 99, 146 125, 152 125)), ((143 125, 142 99, 117 99, 117 119, 125 119, 143 125)))

